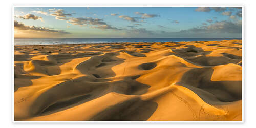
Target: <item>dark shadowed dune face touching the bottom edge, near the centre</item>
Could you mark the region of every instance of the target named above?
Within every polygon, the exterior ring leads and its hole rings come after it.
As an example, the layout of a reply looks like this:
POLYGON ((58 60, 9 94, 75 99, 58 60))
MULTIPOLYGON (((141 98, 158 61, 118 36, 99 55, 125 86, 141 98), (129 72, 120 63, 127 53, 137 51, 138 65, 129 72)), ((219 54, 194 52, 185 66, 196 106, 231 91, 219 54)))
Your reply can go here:
POLYGON ((156 102, 140 98, 126 100, 106 108, 90 120, 94 121, 145 121, 156 111, 156 102))

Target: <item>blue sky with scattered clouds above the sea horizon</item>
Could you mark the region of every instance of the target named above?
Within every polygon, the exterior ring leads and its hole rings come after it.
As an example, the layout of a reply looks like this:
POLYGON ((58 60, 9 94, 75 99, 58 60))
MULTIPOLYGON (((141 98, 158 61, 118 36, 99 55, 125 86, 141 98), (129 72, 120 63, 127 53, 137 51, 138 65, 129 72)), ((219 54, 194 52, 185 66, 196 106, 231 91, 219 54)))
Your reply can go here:
POLYGON ((239 7, 15 7, 15 38, 242 38, 239 7))

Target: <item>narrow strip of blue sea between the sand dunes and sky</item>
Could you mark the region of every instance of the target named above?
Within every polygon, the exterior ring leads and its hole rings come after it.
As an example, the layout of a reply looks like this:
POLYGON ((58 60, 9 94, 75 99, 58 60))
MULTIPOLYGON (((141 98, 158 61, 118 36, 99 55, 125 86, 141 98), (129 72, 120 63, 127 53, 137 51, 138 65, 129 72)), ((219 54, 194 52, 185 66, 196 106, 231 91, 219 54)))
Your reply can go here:
POLYGON ((220 41, 242 38, 14 38, 14 45, 92 44, 114 42, 220 41))

